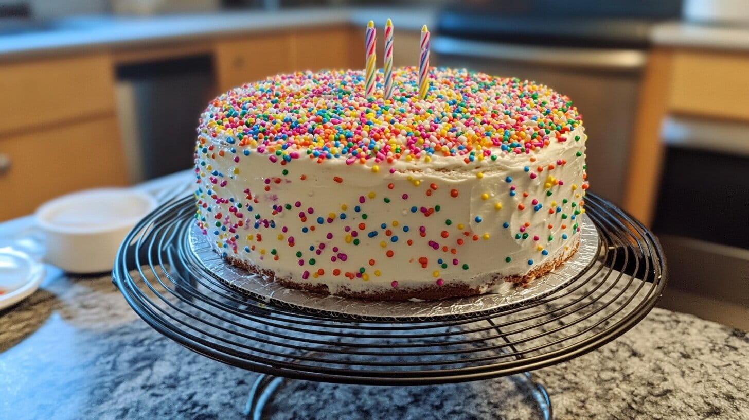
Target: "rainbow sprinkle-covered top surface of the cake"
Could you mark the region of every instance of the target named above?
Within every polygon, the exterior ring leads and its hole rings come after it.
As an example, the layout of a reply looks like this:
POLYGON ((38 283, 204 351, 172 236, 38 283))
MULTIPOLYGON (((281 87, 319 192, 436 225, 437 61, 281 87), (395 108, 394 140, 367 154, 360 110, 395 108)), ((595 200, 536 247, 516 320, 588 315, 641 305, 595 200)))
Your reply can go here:
MULTIPOLYGON (((363 71, 281 74, 232 89, 209 104, 198 133, 272 161, 346 163, 461 157, 466 163, 563 142, 582 119, 564 95, 533 82, 431 69, 419 99, 418 69, 393 71, 392 100, 366 98, 363 71)), ((453 158, 455 160, 455 158, 453 158)))

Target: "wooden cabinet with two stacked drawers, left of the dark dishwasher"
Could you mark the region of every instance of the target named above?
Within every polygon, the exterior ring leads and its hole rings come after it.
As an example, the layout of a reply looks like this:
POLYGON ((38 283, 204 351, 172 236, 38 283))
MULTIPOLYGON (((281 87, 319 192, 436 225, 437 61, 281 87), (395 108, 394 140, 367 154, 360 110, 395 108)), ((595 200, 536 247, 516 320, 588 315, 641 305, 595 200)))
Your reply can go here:
POLYGON ((54 196, 126 182, 106 54, 0 67, 0 220, 54 196))

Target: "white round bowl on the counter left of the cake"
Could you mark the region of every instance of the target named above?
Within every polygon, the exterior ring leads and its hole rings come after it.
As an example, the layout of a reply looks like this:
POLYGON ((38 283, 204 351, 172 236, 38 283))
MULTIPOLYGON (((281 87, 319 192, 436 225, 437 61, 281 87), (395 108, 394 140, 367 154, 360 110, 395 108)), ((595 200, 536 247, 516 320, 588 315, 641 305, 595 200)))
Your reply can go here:
POLYGON ((156 206, 148 193, 127 188, 85 190, 46 202, 36 213, 44 259, 66 272, 112 270, 127 233, 156 206))

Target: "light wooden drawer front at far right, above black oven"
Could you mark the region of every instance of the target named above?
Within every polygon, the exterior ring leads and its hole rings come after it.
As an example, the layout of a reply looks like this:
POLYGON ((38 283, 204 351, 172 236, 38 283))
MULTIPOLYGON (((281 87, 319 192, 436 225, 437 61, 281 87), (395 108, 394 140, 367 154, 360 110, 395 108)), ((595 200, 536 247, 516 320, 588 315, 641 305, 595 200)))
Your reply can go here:
POLYGON ((670 110, 749 121, 749 54, 675 52, 670 110))

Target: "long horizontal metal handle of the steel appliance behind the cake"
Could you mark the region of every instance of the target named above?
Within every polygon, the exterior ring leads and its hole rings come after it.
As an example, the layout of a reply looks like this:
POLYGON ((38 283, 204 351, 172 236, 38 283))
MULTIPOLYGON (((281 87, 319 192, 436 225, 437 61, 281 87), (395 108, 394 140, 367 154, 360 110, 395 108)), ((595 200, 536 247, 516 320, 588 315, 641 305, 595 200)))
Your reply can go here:
POLYGON ((431 49, 440 55, 488 58, 529 65, 552 65, 589 70, 637 71, 646 62, 640 49, 564 48, 435 37, 431 49))

